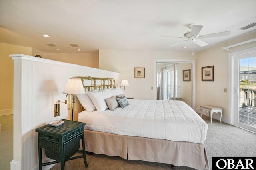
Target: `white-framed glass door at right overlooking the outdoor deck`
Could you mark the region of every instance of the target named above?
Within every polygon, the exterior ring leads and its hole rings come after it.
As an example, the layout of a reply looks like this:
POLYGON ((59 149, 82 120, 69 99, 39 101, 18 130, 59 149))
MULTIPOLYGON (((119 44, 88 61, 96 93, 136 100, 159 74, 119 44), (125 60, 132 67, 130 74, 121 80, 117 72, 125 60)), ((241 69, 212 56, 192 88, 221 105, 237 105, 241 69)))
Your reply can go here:
POLYGON ((256 47, 230 53, 231 124, 256 132, 256 47))

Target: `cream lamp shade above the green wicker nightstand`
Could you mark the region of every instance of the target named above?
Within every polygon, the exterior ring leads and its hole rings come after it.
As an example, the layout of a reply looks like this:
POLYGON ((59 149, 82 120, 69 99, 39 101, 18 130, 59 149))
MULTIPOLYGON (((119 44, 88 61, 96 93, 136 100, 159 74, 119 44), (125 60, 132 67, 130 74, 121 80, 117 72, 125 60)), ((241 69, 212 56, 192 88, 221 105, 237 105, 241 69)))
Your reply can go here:
POLYGON ((84 86, 80 78, 70 78, 63 90, 64 94, 84 94, 84 86))

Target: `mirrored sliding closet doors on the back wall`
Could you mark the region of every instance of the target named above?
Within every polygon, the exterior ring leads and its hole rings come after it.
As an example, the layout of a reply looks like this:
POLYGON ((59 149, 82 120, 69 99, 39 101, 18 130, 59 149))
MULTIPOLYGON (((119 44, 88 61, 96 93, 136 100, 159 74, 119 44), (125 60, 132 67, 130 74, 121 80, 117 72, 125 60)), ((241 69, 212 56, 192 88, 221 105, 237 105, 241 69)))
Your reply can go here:
POLYGON ((182 100, 192 107, 192 63, 156 62, 156 100, 182 100))

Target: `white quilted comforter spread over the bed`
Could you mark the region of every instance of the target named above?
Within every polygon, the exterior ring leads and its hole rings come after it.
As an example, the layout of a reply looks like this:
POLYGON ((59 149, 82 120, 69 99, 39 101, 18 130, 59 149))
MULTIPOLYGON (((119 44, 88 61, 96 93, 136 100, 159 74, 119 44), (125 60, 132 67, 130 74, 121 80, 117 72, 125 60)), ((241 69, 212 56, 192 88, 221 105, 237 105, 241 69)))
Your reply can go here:
POLYGON ((117 135, 202 143, 208 125, 185 102, 172 100, 129 100, 122 109, 82 111, 78 121, 84 129, 117 135))

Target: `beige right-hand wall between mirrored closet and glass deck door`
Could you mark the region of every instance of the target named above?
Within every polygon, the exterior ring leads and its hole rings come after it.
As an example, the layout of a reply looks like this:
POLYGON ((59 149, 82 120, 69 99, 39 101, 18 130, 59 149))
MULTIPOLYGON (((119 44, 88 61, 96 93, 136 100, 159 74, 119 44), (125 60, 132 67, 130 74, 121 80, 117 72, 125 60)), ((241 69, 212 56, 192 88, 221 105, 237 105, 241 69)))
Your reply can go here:
POLYGON ((206 49, 197 54, 196 60, 196 108, 201 105, 216 105, 223 108, 223 117, 228 119, 229 94, 224 92, 224 88, 229 89, 229 53, 256 47, 256 41, 230 49, 230 52, 222 50, 222 47, 240 43, 256 38, 256 33, 244 35, 221 43, 210 49, 206 49), (201 81, 201 67, 214 66, 214 82, 201 81))

